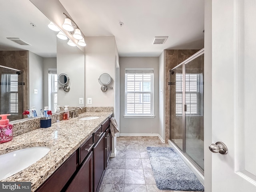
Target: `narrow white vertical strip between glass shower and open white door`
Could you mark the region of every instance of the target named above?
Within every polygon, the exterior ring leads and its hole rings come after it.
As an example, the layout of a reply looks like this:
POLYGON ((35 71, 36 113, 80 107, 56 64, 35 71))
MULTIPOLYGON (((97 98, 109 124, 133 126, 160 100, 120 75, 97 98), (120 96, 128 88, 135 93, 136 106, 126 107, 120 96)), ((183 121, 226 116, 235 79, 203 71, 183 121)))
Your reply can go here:
POLYGON ((204 191, 212 191, 212 0, 204 1, 204 191))

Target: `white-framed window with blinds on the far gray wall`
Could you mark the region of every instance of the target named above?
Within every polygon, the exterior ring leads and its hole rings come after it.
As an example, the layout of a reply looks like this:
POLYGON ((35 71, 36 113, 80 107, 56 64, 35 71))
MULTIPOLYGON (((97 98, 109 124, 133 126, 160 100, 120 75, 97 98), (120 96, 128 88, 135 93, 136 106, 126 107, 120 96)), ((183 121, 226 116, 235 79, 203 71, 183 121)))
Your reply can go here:
POLYGON ((153 69, 125 70, 125 114, 153 115, 153 69))

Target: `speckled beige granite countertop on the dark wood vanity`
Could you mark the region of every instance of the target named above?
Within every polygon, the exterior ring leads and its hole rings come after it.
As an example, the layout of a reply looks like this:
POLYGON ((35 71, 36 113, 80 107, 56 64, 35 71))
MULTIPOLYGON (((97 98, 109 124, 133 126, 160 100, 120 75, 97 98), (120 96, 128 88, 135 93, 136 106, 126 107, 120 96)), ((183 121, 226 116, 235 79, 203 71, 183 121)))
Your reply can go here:
POLYGON ((48 154, 36 163, 1 181, 31 182, 32 192, 35 191, 111 114, 112 112, 85 112, 76 118, 56 122, 49 128, 38 128, 0 144, 0 154, 34 146, 50 148, 48 154), (78 120, 86 116, 100 118, 78 120))

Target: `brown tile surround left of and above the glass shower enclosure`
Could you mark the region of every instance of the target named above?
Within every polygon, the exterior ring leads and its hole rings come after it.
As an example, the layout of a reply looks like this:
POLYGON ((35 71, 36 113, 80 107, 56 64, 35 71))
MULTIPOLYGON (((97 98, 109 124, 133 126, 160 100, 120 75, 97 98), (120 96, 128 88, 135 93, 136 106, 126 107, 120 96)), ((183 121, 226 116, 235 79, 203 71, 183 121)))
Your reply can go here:
MULTIPOLYGON (((164 50, 165 60, 165 141, 170 138, 170 72, 172 68, 186 60, 199 50, 164 50)), ((175 100, 172 100, 175 102, 175 100)), ((178 120, 179 122, 179 120, 178 120)), ((177 122, 176 122, 177 123, 177 122)), ((175 125, 175 124, 174 124, 175 125)), ((176 129, 178 130, 178 129, 176 129)), ((177 132, 177 134, 180 134, 177 132)))

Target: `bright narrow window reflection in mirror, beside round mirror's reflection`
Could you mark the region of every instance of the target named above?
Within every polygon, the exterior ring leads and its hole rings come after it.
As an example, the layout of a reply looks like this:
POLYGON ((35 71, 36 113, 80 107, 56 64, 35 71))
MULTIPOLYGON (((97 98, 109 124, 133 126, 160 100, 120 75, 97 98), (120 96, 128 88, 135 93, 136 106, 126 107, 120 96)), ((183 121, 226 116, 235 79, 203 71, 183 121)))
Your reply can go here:
POLYGON ((57 70, 49 70, 48 73, 49 77, 49 109, 52 110, 52 112, 56 112, 57 109, 57 91, 58 91, 58 76, 57 76, 57 70))

